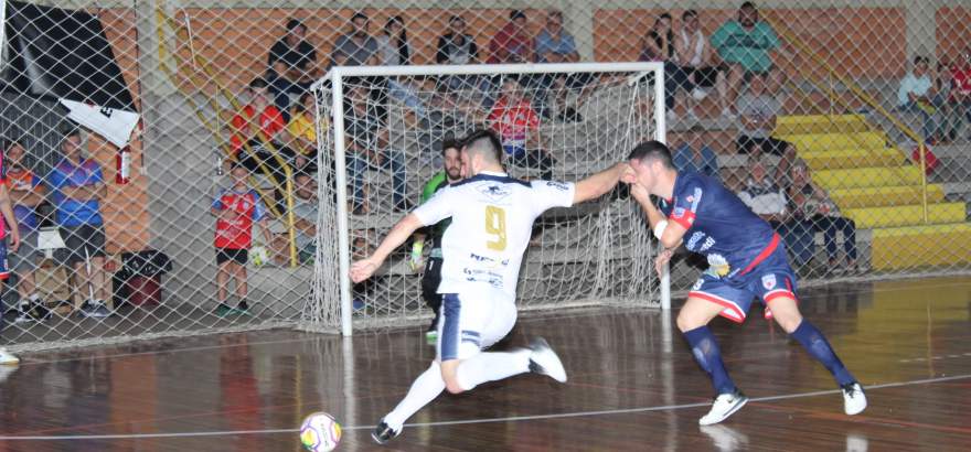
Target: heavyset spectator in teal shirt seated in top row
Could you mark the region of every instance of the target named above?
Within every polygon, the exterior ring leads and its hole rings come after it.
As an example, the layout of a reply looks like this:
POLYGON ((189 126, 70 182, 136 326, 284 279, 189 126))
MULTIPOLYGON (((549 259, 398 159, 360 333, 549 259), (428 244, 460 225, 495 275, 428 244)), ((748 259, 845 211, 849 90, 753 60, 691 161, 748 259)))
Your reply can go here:
MULTIPOLYGON (((770 52, 779 49, 781 42, 772 26, 759 20, 755 3, 746 1, 738 9, 737 20, 725 22, 712 34, 712 46, 728 65, 730 104, 738 97, 743 79, 769 74, 773 67, 770 52)), ((781 85, 782 73, 777 71, 773 74, 771 84, 775 89, 781 85)))

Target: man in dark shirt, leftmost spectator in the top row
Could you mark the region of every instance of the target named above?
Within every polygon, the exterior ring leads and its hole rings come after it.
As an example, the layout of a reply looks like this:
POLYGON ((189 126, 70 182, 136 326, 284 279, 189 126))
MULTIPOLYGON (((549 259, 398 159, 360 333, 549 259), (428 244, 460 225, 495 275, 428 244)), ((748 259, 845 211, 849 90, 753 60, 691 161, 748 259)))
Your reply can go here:
POLYGON ((320 75, 317 51, 307 42, 307 26, 297 19, 287 21, 287 34, 269 50, 266 80, 274 105, 289 120, 290 95, 302 95, 320 75))

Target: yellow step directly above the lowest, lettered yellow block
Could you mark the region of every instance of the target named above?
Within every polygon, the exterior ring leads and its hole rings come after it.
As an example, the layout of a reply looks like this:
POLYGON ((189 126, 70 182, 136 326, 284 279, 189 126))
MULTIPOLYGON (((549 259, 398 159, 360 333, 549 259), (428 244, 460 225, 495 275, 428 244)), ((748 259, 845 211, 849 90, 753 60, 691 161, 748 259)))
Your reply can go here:
MULTIPOLYGON (((861 229, 878 227, 913 226, 924 223, 924 206, 903 205, 887 207, 861 207, 841 209, 843 216, 856 222, 861 229)), ((964 203, 939 203, 927 206, 930 224, 961 223, 967 218, 964 203)))

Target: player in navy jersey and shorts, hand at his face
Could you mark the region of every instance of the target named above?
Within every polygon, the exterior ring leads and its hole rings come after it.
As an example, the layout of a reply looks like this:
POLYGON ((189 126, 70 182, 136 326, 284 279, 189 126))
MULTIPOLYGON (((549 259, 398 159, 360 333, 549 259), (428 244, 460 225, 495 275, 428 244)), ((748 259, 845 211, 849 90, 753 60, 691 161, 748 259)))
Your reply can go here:
POLYGON ((631 151, 629 163, 631 168, 623 182, 630 184, 631 197, 641 205, 654 236, 664 247, 655 260, 658 271, 681 244, 708 260, 708 269, 689 292, 677 314, 677 329, 717 394, 712 410, 698 423, 718 423, 748 401, 728 377, 707 324, 719 314, 744 322, 754 298, 766 304, 767 318, 775 318, 833 374, 843 390, 846 415, 863 411, 863 388, 823 334, 800 314, 796 275, 786 259, 785 245, 769 224, 716 180, 679 173, 671 162, 671 151, 661 142, 639 144, 631 151), (661 198, 660 208, 650 195, 661 198))

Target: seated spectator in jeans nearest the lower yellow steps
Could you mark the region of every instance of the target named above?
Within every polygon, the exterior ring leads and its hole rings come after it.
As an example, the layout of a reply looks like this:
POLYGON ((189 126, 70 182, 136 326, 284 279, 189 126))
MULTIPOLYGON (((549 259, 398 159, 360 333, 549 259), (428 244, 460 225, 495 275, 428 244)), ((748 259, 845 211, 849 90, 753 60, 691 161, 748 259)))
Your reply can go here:
POLYGON ((792 185, 788 190, 789 207, 792 218, 789 235, 793 244, 794 260, 802 266, 814 254, 815 233, 823 233, 829 258, 829 269, 835 272, 856 270, 856 223, 840 215, 835 204, 829 201, 826 192, 819 187, 809 174, 809 168, 801 159, 792 165, 792 185), (840 266, 836 255, 836 233, 843 233, 843 249, 846 254, 845 267, 840 266))

